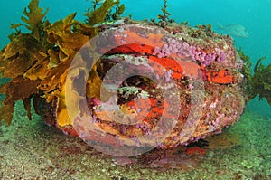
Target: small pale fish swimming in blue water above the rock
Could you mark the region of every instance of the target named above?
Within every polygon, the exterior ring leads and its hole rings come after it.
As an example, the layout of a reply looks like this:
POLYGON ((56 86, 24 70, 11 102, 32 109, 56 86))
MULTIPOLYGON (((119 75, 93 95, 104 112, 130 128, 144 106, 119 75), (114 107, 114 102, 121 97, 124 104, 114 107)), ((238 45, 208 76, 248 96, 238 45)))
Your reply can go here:
POLYGON ((236 37, 248 37, 249 33, 246 28, 240 24, 228 24, 228 25, 221 25, 219 24, 221 30, 229 33, 229 35, 233 35, 236 37))

